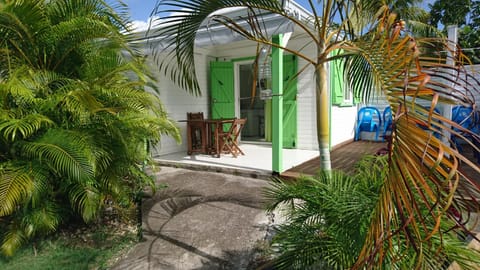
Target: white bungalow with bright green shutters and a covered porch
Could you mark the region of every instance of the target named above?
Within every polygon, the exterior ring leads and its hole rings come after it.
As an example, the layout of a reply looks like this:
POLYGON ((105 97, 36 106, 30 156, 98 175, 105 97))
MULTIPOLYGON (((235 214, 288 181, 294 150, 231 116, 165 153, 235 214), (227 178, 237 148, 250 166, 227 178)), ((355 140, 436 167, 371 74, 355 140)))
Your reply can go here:
MULTIPOLYGON (((310 13, 293 1, 286 1, 286 9, 298 18, 307 18, 310 13)), ((226 11, 229 17, 239 17, 245 14, 243 9, 226 11)), ((292 50, 302 50, 304 54, 314 55, 315 49, 309 46, 308 37, 284 18, 265 14, 263 16, 267 33, 279 42, 287 44, 292 50)), ((140 42, 146 42, 141 40, 140 42)), ((149 42, 152 42, 151 39, 149 42)), ((162 46, 162 39, 155 40, 155 46, 162 46)), ((260 146, 272 146, 267 160, 252 161, 256 154, 241 156, 236 161, 250 160, 255 164, 246 166, 254 170, 267 170, 281 173, 290 167, 318 156, 315 117, 315 85, 313 68, 309 66, 296 80, 290 81, 299 68, 306 65, 303 59, 298 59, 288 53, 283 57, 272 53, 272 90, 271 98, 262 99, 256 93, 252 102, 252 64, 255 60, 257 44, 243 39, 231 30, 219 25, 209 25, 202 28, 196 39, 195 67, 202 95, 194 96, 179 88, 163 74, 158 73, 158 89, 160 98, 174 120, 186 119, 187 112, 203 112, 206 118, 246 117, 247 124, 241 134, 242 147, 252 143, 260 146), (279 59, 283 58, 283 71, 279 59), (285 82, 283 87, 281 85, 285 82), (280 85, 280 89, 278 88, 280 85), (282 93, 283 92, 283 93, 282 93), (282 108, 283 107, 283 108, 282 108), (283 110, 283 113, 281 113, 283 110), (282 115, 283 117, 277 117, 282 115), (274 126, 280 125, 282 132, 274 126), (276 138, 279 134, 283 136, 276 138), (282 150, 283 148, 283 150, 282 150), (276 150, 277 149, 277 150, 276 150), (293 152, 289 152, 293 151, 293 152), (297 152, 295 152, 297 151, 297 152), (303 159, 295 159, 297 153, 307 153, 303 159), (293 160, 295 159, 295 160, 293 160), (293 160, 293 161, 292 161, 293 160), (267 163, 267 168, 260 168, 260 163, 267 163), (257 166, 258 165, 258 166, 257 166)), ((145 47, 150 47, 146 45, 145 47)), ((264 50, 270 50, 267 47, 264 50)), ((275 49, 273 49, 275 50, 275 49)), ((151 52, 149 52, 151 53, 151 52)), ((193 64, 193 63, 192 63, 193 64)), ((155 69, 155 67, 153 67, 155 69)), ((269 66, 265 67, 269 72, 269 66)), ((330 108, 331 142, 330 146, 349 141, 354 136, 354 123, 357 106, 351 93, 343 88, 343 78, 330 68, 330 88, 332 102, 330 108)), ((260 85, 260 89, 266 88, 260 85)), ((266 92, 263 92, 263 94, 266 92)), ((199 161, 202 155, 186 156, 186 123, 179 122, 182 143, 178 145, 171 138, 164 138, 156 147, 155 156, 159 158, 173 157, 181 153, 181 159, 199 161)), ((258 149, 257 149, 258 150, 258 149)), ((224 163, 226 158, 215 163, 224 163)), ((233 163, 230 163, 233 164, 233 163)))

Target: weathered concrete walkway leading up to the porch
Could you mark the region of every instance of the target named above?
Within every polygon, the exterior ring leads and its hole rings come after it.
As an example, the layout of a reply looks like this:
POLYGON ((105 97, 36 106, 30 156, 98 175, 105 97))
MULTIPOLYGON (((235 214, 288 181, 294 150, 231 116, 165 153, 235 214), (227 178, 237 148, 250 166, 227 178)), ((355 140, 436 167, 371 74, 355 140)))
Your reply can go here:
POLYGON ((145 241, 112 269, 247 269, 270 218, 268 181, 162 167, 159 190, 144 202, 145 241))

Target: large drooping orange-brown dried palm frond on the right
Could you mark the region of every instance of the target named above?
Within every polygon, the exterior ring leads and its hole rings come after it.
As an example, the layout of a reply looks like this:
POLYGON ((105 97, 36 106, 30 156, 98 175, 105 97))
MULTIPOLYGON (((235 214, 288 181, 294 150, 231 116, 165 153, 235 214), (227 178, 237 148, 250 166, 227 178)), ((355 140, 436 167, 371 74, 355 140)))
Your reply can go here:
MULTIPOLYGON (((394 20, 389 17, 386 31, 378 32, 375 39, 364 43, 365 46, 356 43, 362 48, 358 57, 361 61, 357 61, 359 64, 351 62, 349 66, 370 70, 370 81, 354 78, 354 87, 377 86, 394 108, 395 119, 390 172, 382 187, 377 216, 360 255, 365 261, 358 267, 375 260, 378 263, 388 252, 398 252, 389 247, 399 238, 418 252, 415 263, 423 263, 424 257, 419 256, 428 249, 418 245, 434 235, 444 234, 438 225, 452 207, 452 202, 463 213, 469 209, 459 205, 475 199, 456 193, 462 183, 472 183, 468 178, 461 180, 458 173, 459 161, 466 158, 450 147, 448 138, 446 142, 441 140, 444 130, 455 132, 455 128, 467 134, 471 132, 436 113, 433 108, 438 104, 474 106, 472 92, 479 91, 472 87, 476 80, 461 73, 460 67, 447 65, 444 58, 424 56, 422 47, 435 41, 413 40, 402 32, 401 23, 388 27, 391 21, 394 20), (429 211, 425 213, 422 209, 429 211)), ((355 58, 351 60, 355 61, 355 58)), ((367 73, 354 70, 351 74, 367 73)), ((476 165, 472 168, 478 171, 476 165)), ((449 218, 453 219, 452 216, 449 218)))

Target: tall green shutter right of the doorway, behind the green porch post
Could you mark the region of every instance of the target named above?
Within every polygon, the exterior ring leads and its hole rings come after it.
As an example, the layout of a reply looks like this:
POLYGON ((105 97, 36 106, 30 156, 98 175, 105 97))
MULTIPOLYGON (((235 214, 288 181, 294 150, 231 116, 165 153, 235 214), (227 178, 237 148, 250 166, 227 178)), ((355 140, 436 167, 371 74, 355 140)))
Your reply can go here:
POLYGON ((283 56, 283 147, 297 143, 297 57, 283 56))

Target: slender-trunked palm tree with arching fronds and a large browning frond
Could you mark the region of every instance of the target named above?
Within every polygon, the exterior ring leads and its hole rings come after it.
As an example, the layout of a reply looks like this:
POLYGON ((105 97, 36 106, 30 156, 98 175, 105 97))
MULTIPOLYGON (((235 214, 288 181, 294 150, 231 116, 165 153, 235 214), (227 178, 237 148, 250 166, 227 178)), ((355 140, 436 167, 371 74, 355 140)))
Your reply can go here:
MULTIPOLYGON (((282 48, 304 59, 315 70, 320 167, 329 171, 327 63, 341 59, 355 96, 367 102, 373 94, 383 94, 394 115, 389 171, 354 267, 382 265, 386 258, 402 254, 405 246, 412 247, 417 255, 413 266, 422 267, 425 256, 439 254, 429 241, 432 237, 442 238, 445 233, 440 229, 442 226, 429 224, 440 225, 442 217, 447 217, 455 224, 453 230, 461 228, 468 233, 464 220, 456 213, 468 214, 470 209, 478 207, 478 201, 472 199, 478 194, 478 186, 459 170, 458 164, 461 161, 476 171, 480 171, 479 168, 453 149, 449 138, 441 140, 433 136, 447 130, 457 136, 465 132, 478 139, 434 111, 440 103, 473 106, 472 92, 478 92, 478 85, 475 86, 473 77, 462 73, 462 55, 455 58, 455 66, 447 65, 445 57, 425 55, 432 48, 444 51, 451 48, 442 39, 412 36, 406 31, 404 21, 398 20, 388 5, 375 9, 376 15, 369 17, 373 20, 361 27, 354 24, 360 21, 358 18, 363 12, 371 12, 377 2, 308 1, 313 16, 303 21, 292 17, 275 0, 161 1, 156 10, 163 10, 167 15, 162 18, 157 34, 172 37, 167 46, 172 51, 160 68, 181 86, 199 92, 192 65, 194 40, 196 31, 207 18, 249 40, 282 48), (228 7, 247 8, 248 29, 224 14, 212 15, 228 7), (273 43, 261 31, 260 11, 288 18, 303 29, 314 44, 316 54, 309 56, 273 43), (472 204, 467 203, 469 199, 472 204), (397 240, 405 241, 406 245, 398 247, 394 244, 397 240)), ((471 145, 478 151, 473 143, 471 145)))

